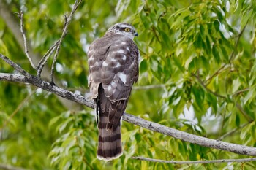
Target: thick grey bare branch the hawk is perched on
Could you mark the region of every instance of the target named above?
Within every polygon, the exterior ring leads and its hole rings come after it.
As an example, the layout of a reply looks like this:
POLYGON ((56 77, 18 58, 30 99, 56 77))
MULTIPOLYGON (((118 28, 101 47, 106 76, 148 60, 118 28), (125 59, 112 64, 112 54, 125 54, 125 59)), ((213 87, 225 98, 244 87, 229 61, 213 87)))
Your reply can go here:
MULTIPOLYGON (((90 107, 92 109, 94 108, 94 101, 92 101, 91 98, 86 98, 84 96, 80 96, 79 94, 73 93, 69 90, 59 88, 56 85, 50 84, 50 82, 45 82, 41 80, 39 77, 31 76, 30 78, 27 78, 23 75, 0 73, 0 80, 7 80, 12 82, 27 82, 31 85, 37 86, 38 88, 42 88, 43 90, 55 93, 56 95, 61 96, 63 98, 67 98, 79 104, 86 105, 87 107, 90 107)), ((178 131, 174 128, 168 128, 165 125, 160 125, 158 123, 144 120, 134 115, 129 115, 127 113, 124 113, 123 120, 127 121, 128 123, 132 123, 135 125, 139 125, 140 127, 147 128, 148 130, 156 131, 159 132, 160 134, 165 134, 167 136, 173 136, 176 139, 181 139, 182 141, 190 142, 192 144, 198 144, 203 147, 211 147, 218 150, 226 150, 241 155, 256 156, 256 147, 247 147, 241 144, 222 142, 215 139, 208 139, 202 136, 189 134, 184 131, 178 131)))

